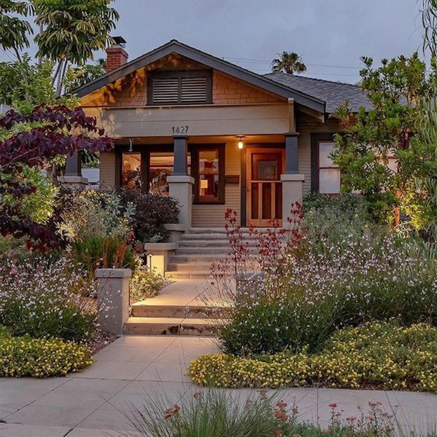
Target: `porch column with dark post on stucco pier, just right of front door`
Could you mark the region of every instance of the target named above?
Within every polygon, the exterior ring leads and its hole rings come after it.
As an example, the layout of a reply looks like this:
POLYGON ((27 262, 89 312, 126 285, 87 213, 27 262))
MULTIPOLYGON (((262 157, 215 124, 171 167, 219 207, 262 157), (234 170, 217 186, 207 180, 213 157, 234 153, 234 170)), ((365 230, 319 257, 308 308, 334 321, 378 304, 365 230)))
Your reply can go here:
POLYGON ((282 226, 288 228, 291 204, 302 203, 304 174, 298 171, 298 132, 285 134, 285 173, 282 181, 282 226))

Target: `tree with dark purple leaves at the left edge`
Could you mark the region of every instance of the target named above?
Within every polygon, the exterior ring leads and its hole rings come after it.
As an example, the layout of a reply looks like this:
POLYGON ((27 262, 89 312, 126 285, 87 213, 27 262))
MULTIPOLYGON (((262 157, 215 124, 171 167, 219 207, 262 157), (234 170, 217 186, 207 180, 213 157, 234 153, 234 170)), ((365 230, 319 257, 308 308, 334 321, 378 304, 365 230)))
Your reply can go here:
POLYGON ((95 118, 87 117, 81 108, 64 105, 38 105, 27 115, 10 110, 0 118, 0 135, 5 138, 0 141, 1 234, 27 236, 28 246, 40 250, 58 246, 55 217, 44 224, 32 222, 2 197, 20 198, 34 189, 18 177, 23 166, 42 169, 56 156, 72 155, 76 150, 107 152, 114 147, 113 142, 97 127, 95 118))

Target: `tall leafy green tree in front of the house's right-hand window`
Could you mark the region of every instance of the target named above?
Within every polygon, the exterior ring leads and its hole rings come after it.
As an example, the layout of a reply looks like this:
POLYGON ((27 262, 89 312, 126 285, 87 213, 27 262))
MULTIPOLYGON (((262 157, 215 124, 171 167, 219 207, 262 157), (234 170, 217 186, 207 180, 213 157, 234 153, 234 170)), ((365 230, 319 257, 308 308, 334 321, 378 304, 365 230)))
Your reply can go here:
POLYGON ((436 98, 436 66, 427 75, 417 53, 383 59, 376 69, 371 58, 362 60, 362 89, 373 108, 350 114, 346 102, 333 114, 346 126, 345 135, 335 137, 338 149, 333 154, 342 175, 341 189, 361 191, 378 220, 389 220, 395 208, 401 208, 421 229, 434 214, 424 189, 426 179, 436 174, 437 143, 425 139, 418 121, 426 124, 424 105, 436 98), (388 166, 390 160, 395 160, 396 169, 388 166))

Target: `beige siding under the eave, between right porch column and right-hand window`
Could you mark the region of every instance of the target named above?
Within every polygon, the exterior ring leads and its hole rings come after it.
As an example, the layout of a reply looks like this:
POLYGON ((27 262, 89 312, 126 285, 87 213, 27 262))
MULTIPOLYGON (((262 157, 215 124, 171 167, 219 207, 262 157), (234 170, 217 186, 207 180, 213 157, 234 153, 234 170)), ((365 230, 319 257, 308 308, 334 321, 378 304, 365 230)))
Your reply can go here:
POLYGON ((296 130, 299 132, 298 160, 299 173, 305 174, 303 193, 311 191, 311 134, 312 133, 336 133, 340 132, 338 120, 326 118, 325 123, 317 121, 306 114, 298 114, 296 130))

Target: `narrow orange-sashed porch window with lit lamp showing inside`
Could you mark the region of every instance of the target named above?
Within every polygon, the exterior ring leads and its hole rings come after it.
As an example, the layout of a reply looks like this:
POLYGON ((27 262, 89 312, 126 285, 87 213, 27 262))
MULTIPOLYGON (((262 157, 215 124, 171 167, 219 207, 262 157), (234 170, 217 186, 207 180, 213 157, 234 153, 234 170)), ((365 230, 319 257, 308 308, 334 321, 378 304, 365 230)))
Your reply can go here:
POLYGON ((199 150, 199 200, 218 201, 218 149, 199 150))

